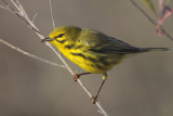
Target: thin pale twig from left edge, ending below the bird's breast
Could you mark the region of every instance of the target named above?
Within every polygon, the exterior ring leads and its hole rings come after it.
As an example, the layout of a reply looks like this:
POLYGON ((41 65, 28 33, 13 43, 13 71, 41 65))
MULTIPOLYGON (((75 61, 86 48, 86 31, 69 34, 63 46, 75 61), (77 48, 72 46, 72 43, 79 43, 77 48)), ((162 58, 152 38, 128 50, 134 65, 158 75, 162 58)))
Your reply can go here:
POLYGON ((29 57, 39 60, 39 61, 41 61, 41 62, 48 63, 48 64, 53 65, 53 66, 65 67, 64 65, 59 65, 59 64, 57 64, 57 63, 53 63, 53 62, 50 62, 50 61, 44 60, 44 59, 42 59, 42 57, 36 56, 36 55, 34 55, 34 54, 30 54, 30 53, 28 53, 28 52, 26 52, 26 51, 24 51, 24 50, 22 50, 22 49, 19 49, 19 48, 17 48, 17 47, 13 46, 13 44, 11 44, 11 43, 2 40, 2 39, 0 39, 0 42, 3 43, 3 44, 5 44, 5 46, 8 46, 8 47, 10 47, 11 49, 14 49, 14 50, 16 50, 16 51, 18 51, 18 52, 21 52, 21 53, 29 56, 29 57))

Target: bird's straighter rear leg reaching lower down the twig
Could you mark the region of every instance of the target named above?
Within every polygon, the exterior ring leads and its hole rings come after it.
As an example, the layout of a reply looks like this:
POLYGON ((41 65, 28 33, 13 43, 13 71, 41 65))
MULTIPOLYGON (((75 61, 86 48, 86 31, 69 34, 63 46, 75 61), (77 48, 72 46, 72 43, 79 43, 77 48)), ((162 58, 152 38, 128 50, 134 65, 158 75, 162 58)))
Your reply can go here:
POLYGON ((95 104, 95 102, 96 102, 96 100, 97 100, 97 98, 98 98, 98 94, 99 94, 99 92, 101 92, 101 90, 102 90, 102 87, 103 87, 104 83, 105 83, 106 78, 107 78, 107 73, 103 74, 103 81, 102 81, 102 85, 101 85, 101 87, 99 87, 96 95, 91 98, 93 104, 95 104))

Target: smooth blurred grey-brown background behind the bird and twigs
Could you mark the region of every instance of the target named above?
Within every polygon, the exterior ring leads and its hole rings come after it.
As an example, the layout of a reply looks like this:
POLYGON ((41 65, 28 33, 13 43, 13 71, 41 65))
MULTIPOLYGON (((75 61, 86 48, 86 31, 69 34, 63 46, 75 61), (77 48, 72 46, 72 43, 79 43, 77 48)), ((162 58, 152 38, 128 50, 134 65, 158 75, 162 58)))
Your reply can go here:
MULTIPOLYGON (((10 0, 5 0, 10 3, 10 0)), ((137 3, 154 18, 155 15, 137 3)), ((155 0, 152 0, 155 1, 155 0)), ((44 36, 52 31, 48 0, 21 0, 44 36)), ((2 4, 2 2, 0 2, 2 4)), ((171 2, 170 2, 171 3, 171 2)), ((11 3, 10 3, 11 4, 11 3)), ((135 47, 167 47, 156 27, 129 0, 52 0, 56 26, 72 25, 101 30, 135 47)), ((155 2, 157 7, 157 2, 155 2)), ((173 8, 173 3, 170 4, 173 8)), ((14 14, 0 9, 0 39, 29 53, 62 64, 40 38, 14 14)), ((164 28, 173 34, 173 16, 164 28)), ((173 36, 173 35, 172 35, 173 36)), ((98 96, 110 116, 173 115, 173 51, 132 56, 108 72, 98 96)), ((75 72, 76 64, 66 61, 75 72)), ((102 75, 81 80, 95 94, 102 75)), ((101 116, 97 107, 70 74, 61 67, 30 59, 0 43, 0 116, 101 116)))

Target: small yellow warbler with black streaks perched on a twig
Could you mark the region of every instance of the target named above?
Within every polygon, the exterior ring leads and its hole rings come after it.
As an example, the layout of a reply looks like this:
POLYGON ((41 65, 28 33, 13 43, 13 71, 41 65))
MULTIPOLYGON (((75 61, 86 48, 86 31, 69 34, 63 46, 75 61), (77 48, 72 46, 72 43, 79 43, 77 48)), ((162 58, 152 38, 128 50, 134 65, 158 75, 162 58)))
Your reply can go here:
POLYGON ((67 59, 88 72, 76 74, 75 80, 85 74, 103 74, 103 82, 96 95, 91 98, 93 103, 107 78, 107 70, 123 59, 130 54, 169 50, 167 48, 135 48, 101 31, 75 26, 62 26, 54 29, 48 38, 42 40, 44 41, 50 41, 67 59))

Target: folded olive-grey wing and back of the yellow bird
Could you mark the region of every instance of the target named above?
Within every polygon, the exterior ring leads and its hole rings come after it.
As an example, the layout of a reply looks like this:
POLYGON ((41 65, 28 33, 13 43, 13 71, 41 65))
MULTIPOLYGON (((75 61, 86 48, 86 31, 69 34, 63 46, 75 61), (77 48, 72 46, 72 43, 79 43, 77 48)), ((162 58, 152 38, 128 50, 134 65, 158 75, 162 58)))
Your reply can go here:
POLYGON ((78 42, 88 48, 89 51, 97 53, 133 53, 138 49, 121 40, 108 37, 99 31, 85 30, 80 35, 78 42))

